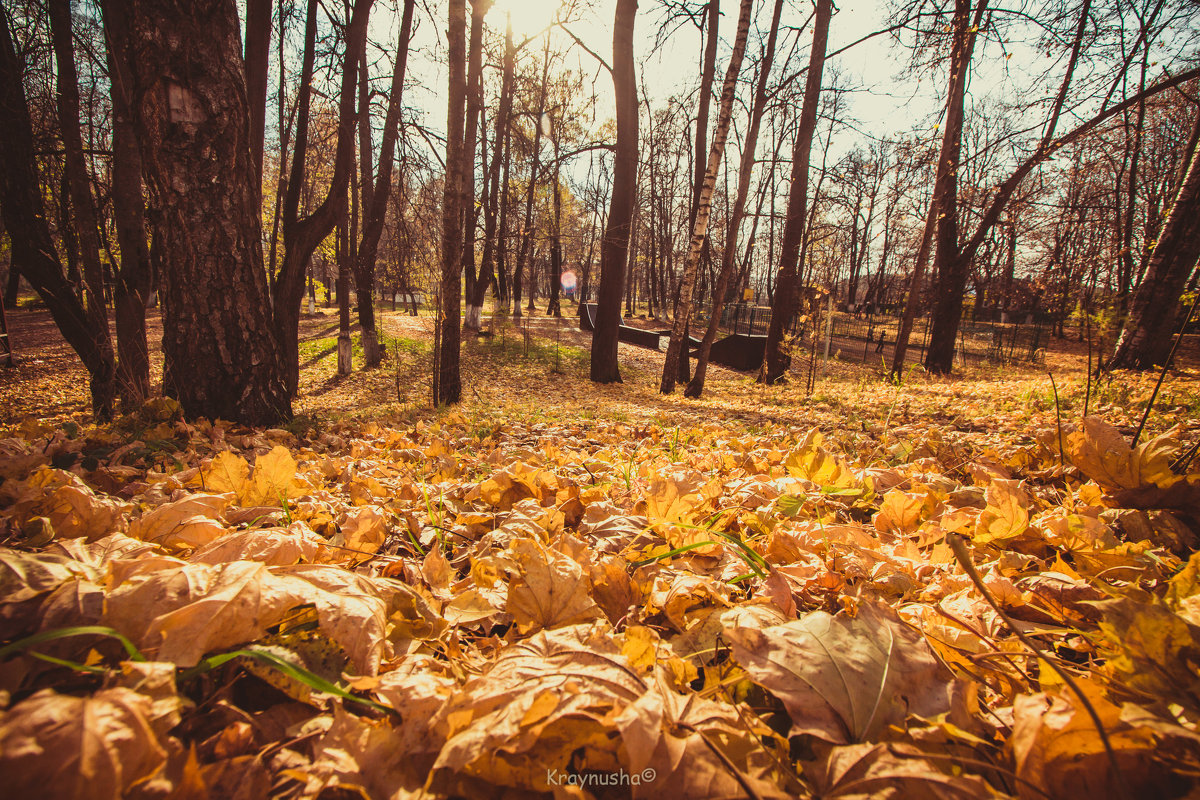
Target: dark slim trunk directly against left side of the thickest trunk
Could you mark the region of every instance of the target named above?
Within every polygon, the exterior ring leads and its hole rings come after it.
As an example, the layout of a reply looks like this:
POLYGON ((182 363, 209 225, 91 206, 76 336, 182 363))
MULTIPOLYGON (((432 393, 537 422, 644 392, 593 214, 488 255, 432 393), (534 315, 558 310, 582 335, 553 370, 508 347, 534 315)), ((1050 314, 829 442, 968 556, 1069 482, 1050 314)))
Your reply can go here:
MULTIPOLYGON (((113 8, 104 24, 127 30, 113 8)), ((112 37, 112 34, 109 34, 112 37)), ((132 411, 150 396, 150 353, 146 344, 146 301, 151 291, 150 248, 146 243, 145 201, 142 197, 142 155, 130 113, 130 76, 125 65, 108 54, 113 101, 113 218, 121 265, 116 270, 113 309, 116 323, 116 389, 121 408, 132 411)))

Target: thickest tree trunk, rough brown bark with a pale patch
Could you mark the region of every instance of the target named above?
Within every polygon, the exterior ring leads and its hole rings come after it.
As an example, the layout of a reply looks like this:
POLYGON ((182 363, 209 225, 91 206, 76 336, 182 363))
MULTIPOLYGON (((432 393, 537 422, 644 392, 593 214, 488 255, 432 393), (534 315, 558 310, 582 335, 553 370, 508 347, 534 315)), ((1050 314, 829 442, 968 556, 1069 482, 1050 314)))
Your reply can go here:
POLYGON ((162 236, 164 386, 188 416, 277 425, 292 409, 263 270, 236 6, 126 7, 114 47, 162 236))

